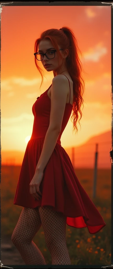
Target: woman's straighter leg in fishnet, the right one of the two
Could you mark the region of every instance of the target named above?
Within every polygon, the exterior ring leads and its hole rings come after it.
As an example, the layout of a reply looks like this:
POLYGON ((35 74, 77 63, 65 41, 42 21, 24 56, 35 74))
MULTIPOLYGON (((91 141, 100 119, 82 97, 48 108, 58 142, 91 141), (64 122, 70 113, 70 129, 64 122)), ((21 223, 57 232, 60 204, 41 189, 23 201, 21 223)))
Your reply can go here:
POLYGON ((66 216, 51 206, 39 207, 39 213, 52 264, 71 264, 66 246, 66 216))

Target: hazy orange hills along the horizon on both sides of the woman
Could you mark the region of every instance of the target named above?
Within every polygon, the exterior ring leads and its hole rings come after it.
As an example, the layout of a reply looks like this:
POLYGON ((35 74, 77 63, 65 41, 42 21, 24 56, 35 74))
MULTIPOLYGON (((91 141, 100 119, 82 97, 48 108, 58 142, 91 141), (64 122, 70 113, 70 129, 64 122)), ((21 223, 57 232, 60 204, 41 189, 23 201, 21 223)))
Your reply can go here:
MULTIPOLYGON (((69 155, 73 166, 81 168, 93 168, 95 164, 96 144, 98 144, 98 168, 111 168, 110 150, 111 150, 111 131, 101 133, 91 137, 81 146, 74 147, 74 158, 72 157, 72 148, 64 148, 69 155), (73 163, 74 159, 74 163, 73 163)), ((25 151, 2 151, 2 165, 21 165, 25 151)))

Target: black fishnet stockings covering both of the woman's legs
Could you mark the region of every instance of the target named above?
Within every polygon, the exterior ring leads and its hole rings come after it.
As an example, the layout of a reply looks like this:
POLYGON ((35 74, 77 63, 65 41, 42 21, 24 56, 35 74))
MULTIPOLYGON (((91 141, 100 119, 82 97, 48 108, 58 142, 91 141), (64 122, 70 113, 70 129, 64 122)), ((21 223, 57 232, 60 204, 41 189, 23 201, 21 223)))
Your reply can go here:
POLYGON ((51 206, 23 207, 12 234, 12 242, 20 252, 25 264, 46 264, 45 259, 32 241, 41 225, 52 264, 71 264, 66 246, 66 216, 52 210, 51 206))

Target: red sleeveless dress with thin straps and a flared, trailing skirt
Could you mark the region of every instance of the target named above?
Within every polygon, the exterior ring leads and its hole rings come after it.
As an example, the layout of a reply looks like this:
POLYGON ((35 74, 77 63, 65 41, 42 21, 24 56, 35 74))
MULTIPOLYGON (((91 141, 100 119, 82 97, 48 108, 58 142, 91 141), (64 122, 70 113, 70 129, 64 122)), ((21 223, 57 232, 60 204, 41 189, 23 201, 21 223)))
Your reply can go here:
POLYGON ((52 206, 53 210, 60 211, 67 216, 67 225, 75 228, 87 227, 89 233, 94 234, 99 232, 106 223, 81 186, 69 155, 61 146, 61 135, 72 112, 70 101, 66 103, 61 133, 44 169, 40 184, 42 198, 40 201, 35 201, 30 194, 29 184, 35 174, 49 126, 51 110, 51 99, 47 94, 49 88, 40 97, 37 97, 32 107, 33 131, 25 150, 13 204, 30 208, 52 206))

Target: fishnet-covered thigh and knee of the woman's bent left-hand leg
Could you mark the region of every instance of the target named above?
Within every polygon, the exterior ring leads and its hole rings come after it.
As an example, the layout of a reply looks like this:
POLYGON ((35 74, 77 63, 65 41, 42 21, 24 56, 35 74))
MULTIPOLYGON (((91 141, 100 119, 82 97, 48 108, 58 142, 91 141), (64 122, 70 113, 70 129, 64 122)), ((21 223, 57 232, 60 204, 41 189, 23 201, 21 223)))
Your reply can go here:
POLYGON ((17 225, 12 234, 12 241, 31 242, 42 225, 39 209, 23 207, 17 225))

